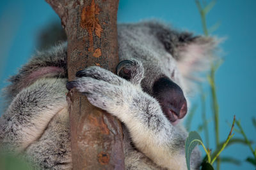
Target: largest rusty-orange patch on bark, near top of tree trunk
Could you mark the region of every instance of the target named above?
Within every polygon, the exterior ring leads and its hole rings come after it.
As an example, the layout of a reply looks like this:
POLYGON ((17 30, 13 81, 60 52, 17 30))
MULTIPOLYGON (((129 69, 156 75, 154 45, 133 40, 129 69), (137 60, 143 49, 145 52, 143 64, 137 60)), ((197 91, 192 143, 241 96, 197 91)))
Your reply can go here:
POLYGON ((89 52, 93 52, 93 31, 95 31, 96 36, 100 38, 102 27, 99 23, 98 15, 100 13, 100 8, 95 1, 88 6, 84 6, 81 14, 80 26, 86 29, 89 34, 90 48, 89 52))

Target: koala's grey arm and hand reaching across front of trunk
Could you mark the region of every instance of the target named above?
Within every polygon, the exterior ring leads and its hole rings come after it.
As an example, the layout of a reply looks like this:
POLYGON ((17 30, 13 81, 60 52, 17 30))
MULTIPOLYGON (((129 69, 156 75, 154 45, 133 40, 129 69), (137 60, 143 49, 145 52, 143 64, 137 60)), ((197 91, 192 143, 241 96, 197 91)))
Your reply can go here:
POLYGON ((94 106, 115 115, 127 126, 133 143, 158 166, 186 169, 184 143, 186 134, 164 117, 161 106, 141 90, 140 83, 131 83, 100 67, 79 71, 76 87, 94 106))

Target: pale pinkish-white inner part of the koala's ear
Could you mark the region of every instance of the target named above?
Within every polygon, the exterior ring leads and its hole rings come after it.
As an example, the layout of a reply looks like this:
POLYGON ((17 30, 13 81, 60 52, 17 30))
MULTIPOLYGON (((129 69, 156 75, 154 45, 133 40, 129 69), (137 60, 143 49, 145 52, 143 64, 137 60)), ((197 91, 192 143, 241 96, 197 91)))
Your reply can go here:
POLYGON ((207 71, 211 67, 219 43, 219 39, 206 36, 197 36, 186 43, 179 43, 175 49, 175 59, 182 76, 198 80, 196 73, 207 71))

